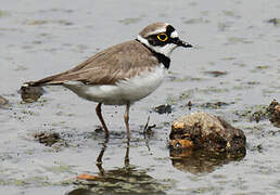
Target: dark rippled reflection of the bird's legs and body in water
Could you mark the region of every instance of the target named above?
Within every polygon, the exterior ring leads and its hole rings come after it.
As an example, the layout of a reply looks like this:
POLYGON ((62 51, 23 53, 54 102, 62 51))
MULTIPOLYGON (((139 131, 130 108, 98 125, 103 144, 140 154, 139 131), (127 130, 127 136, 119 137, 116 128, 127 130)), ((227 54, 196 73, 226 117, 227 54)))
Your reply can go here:
POLYGON ((105 170, 102 167, 102 157, 107 148, 109 139, 105 139, 97 158, 98 176, 89 180, 77 180, 78 188, 67 195, 93 195, 93 194, 154 194, 165 195, 170 187, 168 183, 158 182, 148 174, 148 169, 139 169, 129 164, 130 140, 127 140, 124 167, 105 170))

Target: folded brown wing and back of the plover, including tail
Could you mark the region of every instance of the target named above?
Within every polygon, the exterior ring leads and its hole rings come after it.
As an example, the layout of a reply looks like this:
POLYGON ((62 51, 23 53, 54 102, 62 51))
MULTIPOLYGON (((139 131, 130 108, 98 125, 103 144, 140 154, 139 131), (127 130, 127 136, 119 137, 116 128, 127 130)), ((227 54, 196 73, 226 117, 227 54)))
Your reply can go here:
POLYGON ((115 84, 119 80, 131 78, 140 70, 158 65, 142 43, 132 40, 103 50, 78 66, 29 82, 30 86, 62 84, 66 81, 82 81, 88 84, 115 84))

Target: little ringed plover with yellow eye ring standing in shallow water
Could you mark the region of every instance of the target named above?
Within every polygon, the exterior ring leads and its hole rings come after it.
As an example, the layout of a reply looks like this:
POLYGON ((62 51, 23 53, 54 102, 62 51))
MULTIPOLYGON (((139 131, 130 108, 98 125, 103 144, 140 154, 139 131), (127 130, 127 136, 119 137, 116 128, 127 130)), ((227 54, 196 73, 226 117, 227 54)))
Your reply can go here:
POLYGON ((106 136, 109 130, 101 105, 126 105, 124 120, 129 139, 130 104, 148 96, 162 83, 177 47, 192 46, 180 40, 171 25, 154 23, 135 40, 105 49, 69 70, 25 82, 23 88, 60 84, 82 99, 98 102, 96 112, 106 136))

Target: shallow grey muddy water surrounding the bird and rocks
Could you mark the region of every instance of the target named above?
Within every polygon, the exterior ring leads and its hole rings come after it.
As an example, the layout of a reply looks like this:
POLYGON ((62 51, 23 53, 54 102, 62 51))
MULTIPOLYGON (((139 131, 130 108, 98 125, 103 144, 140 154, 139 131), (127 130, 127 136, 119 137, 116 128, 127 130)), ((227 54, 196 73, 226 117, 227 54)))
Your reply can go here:
POLYGON ((280 101, 280 1, 0 0, 0 95, 9 100, 0 107, 1 195, 280 194, 279 127, 252 120, 253 113, 280 101), (161 88, 132 106, 129 154, 125 107, 103 107, 111 131, 104 144, 104 134, 96 131, 94 103, 61 87, 47 87, 37 102, 22 103, 24 81, 68 69, 157 21, 173 24, 194 48, 177 49, 161 88), (170 104, 171 113, 154 112, 162 104, 170 104), (170 122, 192 112, 218 115, 242 129, 246 155, 171 158, 170 122), (149 136, 148 116, 155 125, 149 136), (48 146, 38 133, 60 139, 48 146), (104 148, 101 168, 96 159, 104 148), (77 180, 82 173, 101 179, 77 180))

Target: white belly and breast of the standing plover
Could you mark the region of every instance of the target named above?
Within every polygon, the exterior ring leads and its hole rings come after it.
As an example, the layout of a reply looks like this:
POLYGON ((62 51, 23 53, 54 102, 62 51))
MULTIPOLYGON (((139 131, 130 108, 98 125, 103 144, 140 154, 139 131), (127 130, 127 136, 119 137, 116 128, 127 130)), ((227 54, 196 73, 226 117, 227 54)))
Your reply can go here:
POLYGON ((161 86, 165 73, 166 68, 161 65, 151 72, 143 72, 114 86, 88 86, 78 81, 69 81, 64 86, 82 99, 111 105, 123 105, 139 101, 151 94, 161 86))

